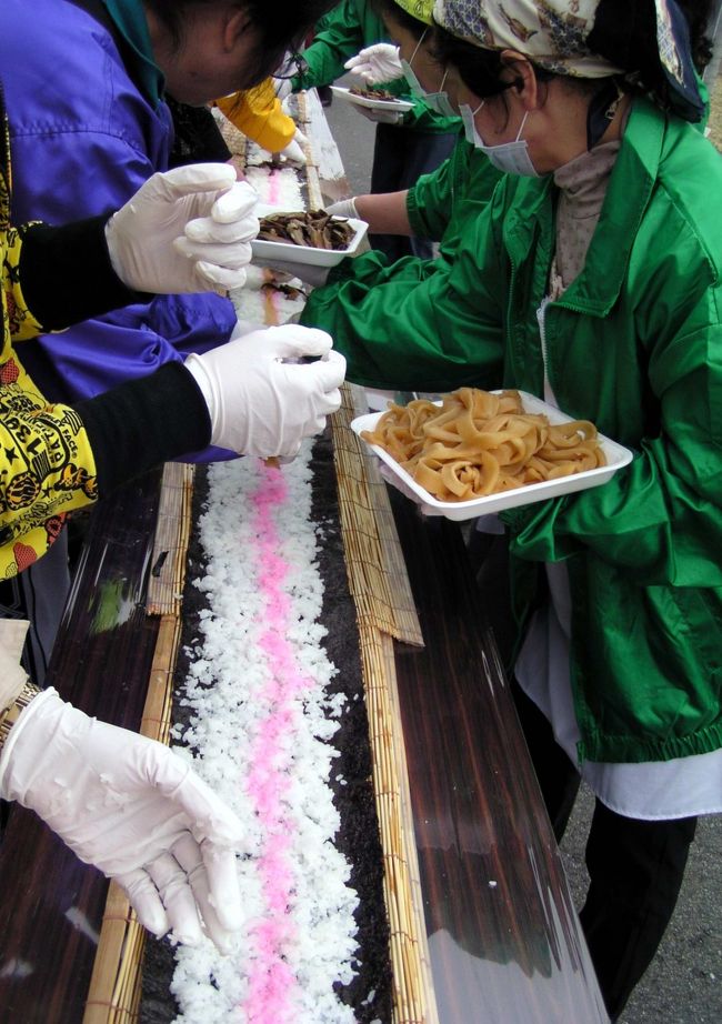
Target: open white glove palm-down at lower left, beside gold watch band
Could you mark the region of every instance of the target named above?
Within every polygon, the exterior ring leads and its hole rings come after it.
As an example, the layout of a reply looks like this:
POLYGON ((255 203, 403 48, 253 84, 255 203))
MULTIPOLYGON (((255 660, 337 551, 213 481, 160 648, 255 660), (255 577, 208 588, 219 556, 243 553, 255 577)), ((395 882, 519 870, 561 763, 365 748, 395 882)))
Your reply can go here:
POLYGON ((46 690, 10 730, 0 795, 30 807, 81 861, 114 879, 150 932, 172 928, 194 943, 204 930, 228 951, 229 932, 242 924, 242 826, 167 746, 46 690))

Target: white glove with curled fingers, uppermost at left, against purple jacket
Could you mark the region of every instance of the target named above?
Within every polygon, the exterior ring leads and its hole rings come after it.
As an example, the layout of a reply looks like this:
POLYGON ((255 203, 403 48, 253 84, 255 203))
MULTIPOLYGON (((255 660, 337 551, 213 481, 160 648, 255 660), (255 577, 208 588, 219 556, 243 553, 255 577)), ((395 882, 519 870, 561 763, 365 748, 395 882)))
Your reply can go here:
POLYGON ((153 174, 106 224, 113 270, 129 288, 157 294, 240 288, 257 201, 227 163, 153 174))

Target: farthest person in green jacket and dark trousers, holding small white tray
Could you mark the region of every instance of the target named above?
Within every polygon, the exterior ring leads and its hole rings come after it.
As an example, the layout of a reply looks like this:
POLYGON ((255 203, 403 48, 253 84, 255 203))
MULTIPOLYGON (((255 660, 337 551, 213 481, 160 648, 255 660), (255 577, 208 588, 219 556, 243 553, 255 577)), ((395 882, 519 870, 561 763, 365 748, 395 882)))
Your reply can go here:
MULTIPOLYGON (((430 10, 431 2, 424 8, 430 10)), ((403 14, 403 3, 399 11, 403 14)), ((412 19, 413 20, 413 19, 412 19)), ((421 24, 423 28, 423 24, 421 24)), ((344 67, 364 47, 388 41, 389 32, 370 0, 343 0, 329 14, 303 51, 304 70, 291 79, 291 89, 311 89, 327 86, 347 73, 344 67)), ((422 99, 409 92, 403 78, 383 84, 384 90, 413 101, 413 109, 401 117, 399 123, 379 123, 371 171, 372 192, 392 192, 405 189, 417 179, 434 170, 449 155, 460 129, 458 118, 443 117, 431 110, 422 99)), ((372 235, 374 249, 385 252, 390 260, 402 255, 429 259, 431 243, 425 240, 404 239, 398 235, 372 235)))

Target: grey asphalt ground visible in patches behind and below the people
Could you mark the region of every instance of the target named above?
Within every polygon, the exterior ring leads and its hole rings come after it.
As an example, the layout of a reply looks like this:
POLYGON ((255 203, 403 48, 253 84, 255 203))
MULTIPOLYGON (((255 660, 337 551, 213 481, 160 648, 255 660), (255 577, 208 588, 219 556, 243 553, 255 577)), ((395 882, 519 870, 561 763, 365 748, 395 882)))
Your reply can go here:
MULTIPOLYGON (((341 80, 345 84, 345 80, 341 80)), ((369 189, 374 126, 337 100, 325 110, 353 194, 369 189)), ((713 91, 712 139, 722 149, 722 79, 713 91)), ((578 906, 588 879, 584 845, 593 797, 583 789, 562 843, 578 906)), ((656 957, 636 986, 621 1024, 722 1022, 722 816, 700 820, 682 892, 656 957)), ((552 1022, 550 1022, 552 1024, 552 1022)), ((559 1022, 574 1024, 574 1022, 559 1022)))

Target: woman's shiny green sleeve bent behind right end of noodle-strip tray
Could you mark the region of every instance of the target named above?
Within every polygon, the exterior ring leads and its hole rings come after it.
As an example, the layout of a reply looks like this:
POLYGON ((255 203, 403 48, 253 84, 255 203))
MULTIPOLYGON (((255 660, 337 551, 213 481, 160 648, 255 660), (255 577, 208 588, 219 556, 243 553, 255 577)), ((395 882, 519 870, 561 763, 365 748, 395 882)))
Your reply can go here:
POLYGON ((719 318, 658 345, 659 429, 602 486, 503 512, 514 554, 553 562, 586 548, 634 585, 722 586, 722 370, 709 359, 721 348, 719 318))

